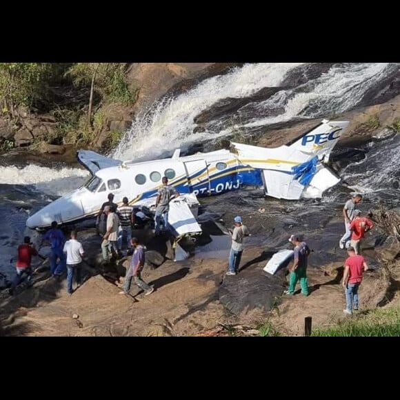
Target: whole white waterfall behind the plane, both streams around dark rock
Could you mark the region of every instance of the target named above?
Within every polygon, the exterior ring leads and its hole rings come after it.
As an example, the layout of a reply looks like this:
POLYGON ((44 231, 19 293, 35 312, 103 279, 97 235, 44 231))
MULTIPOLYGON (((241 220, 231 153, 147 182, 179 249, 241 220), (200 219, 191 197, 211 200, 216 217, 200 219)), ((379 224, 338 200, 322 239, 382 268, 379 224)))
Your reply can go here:
POLYGON ((274 117, 257 117, 242 125, 236 124, 215 132, 194 132, 194 118, 221 99, 250 97, 262 88, 277 87, 288 72, 302 63, 246 64, 229 74, 212 77, 177 97, 163 99, 132 128, 119 143, 112 157, 121 160, 152 159, 175 148, 223 137, 232 131, 290 121, 294 117, 327 117, 326 114, 348 110, 363 94, 382 79, 388 63, 345 64, 330 68, 314 79, 314 88, 307 92, 281 90, 257 105, 260 114, 268 115, 271 107, 282 106, 284 112, 274 117), (308 106, 317 111, 307 114, 308 106), (262 111, 264 111, 262 113, 262 111), (324 114, 326 113, 326 114, 324 114), (210 136, 212 134, 212 136, 210 136))

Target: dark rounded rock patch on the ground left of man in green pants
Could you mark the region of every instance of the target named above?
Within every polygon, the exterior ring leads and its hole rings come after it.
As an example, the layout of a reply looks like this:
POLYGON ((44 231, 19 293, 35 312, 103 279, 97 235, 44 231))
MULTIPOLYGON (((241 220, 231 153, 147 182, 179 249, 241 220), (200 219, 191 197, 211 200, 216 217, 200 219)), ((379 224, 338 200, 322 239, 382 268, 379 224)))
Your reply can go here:
POLYGON ((236 276, 223 279, 219 288, 219 301, 233 314, 258 308, 272 310, 285 288, 284 272, 276 275, 263 272, 261 267, 248 268, 236 276))

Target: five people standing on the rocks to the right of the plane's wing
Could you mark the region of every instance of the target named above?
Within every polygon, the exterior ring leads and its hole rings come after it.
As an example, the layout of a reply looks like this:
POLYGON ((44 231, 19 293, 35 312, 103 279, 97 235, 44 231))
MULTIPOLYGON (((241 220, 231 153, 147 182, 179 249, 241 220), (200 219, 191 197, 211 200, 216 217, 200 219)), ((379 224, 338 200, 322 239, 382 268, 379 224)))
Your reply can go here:
MULTIPOLYGON (((368 270, 368 264, 361 255, 361 241, 366 232, 374 227, 374 224, 367 217, 362 216, 362 212, 355 206, 362 201, 361 194, 357 194, 352 199, 346 201, 343 207, 343 217, 346 233, 339 241, 341 249, 346 248, 348 258, 344 262, 344 272, 342 286, 346 292, 345 314, 352 314, 353 310, 359 309, 358 290, 363 280, 363 272, 368 270)), ((243 238, 249 236, 248 228, 243 225, 241 217, 234 218, 234 230, 232 232, 232 246, 228 259, 228 272, 226 275, 236 275, 239 272, 239 264, 243 253, 243 238)), ((300 282, 301 293, 308 296, 307 266, 310 248, 305 241, 297 234, 292 234, 289 238, 294 246, 293 263, 290 266, 289 286, 284 294, 294 295, 297 282, 300 282)))

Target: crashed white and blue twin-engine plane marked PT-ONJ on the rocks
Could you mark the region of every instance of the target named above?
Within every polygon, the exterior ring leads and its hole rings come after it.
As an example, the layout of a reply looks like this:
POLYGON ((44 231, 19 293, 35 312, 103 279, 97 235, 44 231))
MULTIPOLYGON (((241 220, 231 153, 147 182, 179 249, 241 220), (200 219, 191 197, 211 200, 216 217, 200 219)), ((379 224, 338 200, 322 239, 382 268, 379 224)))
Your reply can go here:
POLYGON ((139 163, 79 150, 79 161, 92 173, 90 180, 33 214, 26 225, 44 229, 52 221, 68 224, 95 217, 109 192, 119 205, 123 197, 128 197, 130 205, 150 206, 163 176, 182 194, 171 205, 169 214, 176 236, 201 232, 191 212, 198 205, 196 197, 257 186, 277 199, 318 198, 340 181, 326 163, 347 126, 348 121, 323 120, 278 148, 231 143, 230 150, 186 157, 180 157, 180 150, 175 150, 170 159, 139 163))

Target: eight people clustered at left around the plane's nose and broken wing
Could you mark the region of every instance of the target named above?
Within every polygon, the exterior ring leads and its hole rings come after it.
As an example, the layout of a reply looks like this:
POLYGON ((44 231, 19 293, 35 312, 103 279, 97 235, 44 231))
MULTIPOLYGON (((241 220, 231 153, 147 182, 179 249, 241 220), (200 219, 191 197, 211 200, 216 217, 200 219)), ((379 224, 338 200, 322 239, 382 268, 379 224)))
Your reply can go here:
MULTIPOLYGON (((168 230, 168 212, 170 201, 179 196, 179 192, 168 185, 168 178, 163 177, 163 186, 159 188, 155 203, 154 232, 159 234, 162 230, 168 230)), ((136 285, 145 291, 145 295, 151 294, 154 288, 141 279, 141 270, 145 265, 145 247, 139 243, 139 239, 132 237, 132 226, 135 223, 135 214, 132 206, 129 206, 127 197, 123 197, 122 206, 113 202, 114 194, 108 194, 108 201, 103 203, 97 218, 97 230, 103 231, 101 250, 103 260, 110 261, 112 250, 117 256, 121 255, 123 239, 126 238, 128 252, 132 252, 130 268, 126 272, 125 284, 121 294, 128 294, 132 279, 136 285)), ((67 292, 72 294, 74 277, 76 277, 77 288, 82 282, 82 263, 85 254, 82 244, 77 240, 77 232, 70 233, 70 240, 66 241, 63 232, 58 228, 57 221, 53 221, 50 230, 43 235, 41 244, 50 243, 50 273, 52 277, 61 277, 67 270, 67 292)), ((41 245, 40 245, 41 246, 41 245)), ((34 248, 30 237, 25 237, 18 248, 16 270, 17 275, 10 286, 10 294, 24 279, 28 285, 32 285, 32 257, 39 253, 34 248)), ((43 257, 41 257, 43 258, 43 257)))

